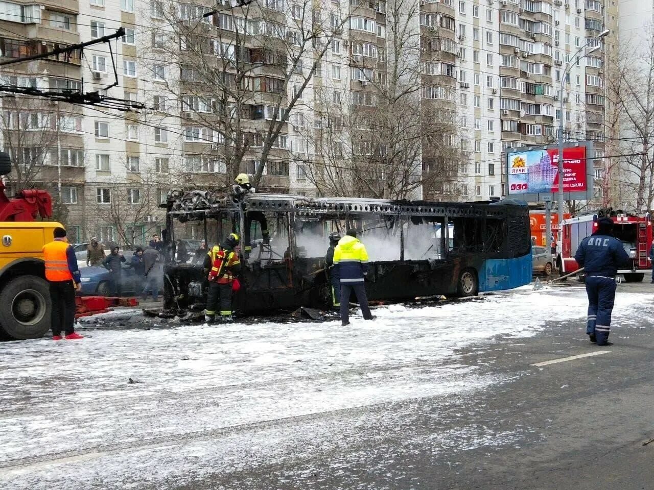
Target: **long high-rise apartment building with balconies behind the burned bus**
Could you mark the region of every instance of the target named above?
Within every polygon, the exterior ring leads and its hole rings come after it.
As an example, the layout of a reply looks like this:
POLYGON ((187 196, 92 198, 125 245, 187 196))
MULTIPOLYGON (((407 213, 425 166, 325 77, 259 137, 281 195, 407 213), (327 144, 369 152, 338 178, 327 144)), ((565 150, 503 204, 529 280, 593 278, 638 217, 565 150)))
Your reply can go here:
MULTIPOLYGON (((38 172, 25 184, 55 191, 79 240, 145 242, 160 232, 158 204, 168 189, 224 188, 228 174, 254 174, 262 154, 264 191, 500 197, 503 152, 555 139, 561 98, 566 137, 596 139, 598 157, 604 151, 602 69, 611 52, 573 55, 612 29, 615 3, 613 10, 597 0, 416 0, 401 9, 382 0, 261 0, 247 9, 167 0, 0 5, 3 59, 33 52, 29 42, 43 50, 126 29, 83 57, 3 71, 12 73, 3 74, 5 84, 98 90, 146 106, 122 113, 44 102, 47 117, 34 108, 42 115, 19 125, 42 135, 48 131, 37 127, 47 120, 56 133, 47 144, 16 139, 25 149, 14 153, 31 158, 38 172), (118 84, 105 90, 114 64, 118 84), (35 146, 48 151, 37 155, 35 146)), ((2 110, 11 112, 7 99, 2 110)), ((602 159, 596 165, 603 171, 602 159)))

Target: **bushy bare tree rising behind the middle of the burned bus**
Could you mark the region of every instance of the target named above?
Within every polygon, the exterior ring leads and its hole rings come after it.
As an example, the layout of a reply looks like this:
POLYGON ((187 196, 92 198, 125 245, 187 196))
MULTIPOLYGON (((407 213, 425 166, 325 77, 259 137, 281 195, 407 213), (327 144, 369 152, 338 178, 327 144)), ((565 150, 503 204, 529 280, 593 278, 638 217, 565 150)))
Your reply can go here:
POLYGON ((450 188, 462 158, 456 93, 424 69, 438 63, 440 40, 436 31, 416 29, 419 6, 387 3, 386 48, 349 42, 345 68, 360 88, 343 93, 332 84, 317 91, 320 110, 294 157, 321 195, 406 199, 450 188))

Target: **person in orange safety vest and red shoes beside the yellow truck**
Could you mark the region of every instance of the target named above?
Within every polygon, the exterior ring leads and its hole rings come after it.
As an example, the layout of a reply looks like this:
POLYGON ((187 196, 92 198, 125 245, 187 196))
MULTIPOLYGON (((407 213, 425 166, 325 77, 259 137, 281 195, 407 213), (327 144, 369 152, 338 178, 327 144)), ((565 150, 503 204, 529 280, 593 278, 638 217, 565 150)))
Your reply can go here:
POLYGON ((43 246, 43 259, 45 278, 50 284, 52 340, 61 340, 62 330, 66 340, 84 338, 75 333, 75 290, 80 289, 80 271, 65 229, 54 229, 54 240, 43 246))

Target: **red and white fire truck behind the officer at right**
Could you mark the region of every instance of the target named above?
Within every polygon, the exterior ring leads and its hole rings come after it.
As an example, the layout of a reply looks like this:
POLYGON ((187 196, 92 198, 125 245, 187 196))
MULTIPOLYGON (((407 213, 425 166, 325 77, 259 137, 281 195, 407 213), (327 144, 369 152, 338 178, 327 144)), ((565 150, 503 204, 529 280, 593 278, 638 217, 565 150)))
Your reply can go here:
MULTIPOLYGON (((618 274, 624 274, 626 282, 640 282, 645 273, 651 273, 651 260, 649 259, 649 248, 652 243, 652 223, 649 213, 623 213, 612 210, 600 210, 596 214, 577 216, 569 220, 563 220, 563 236, 557 266, 561 275, 570 274, 579 269, 574 259, 577 248, 585 237, 589 237, 597 230, 599 218, 611 218, 613 223, 613 236, 620 240, 629 255, 629 265, 625 269, 618 270, 618 274)), ((583 275, 579 274, 583 280, 583 275)))

